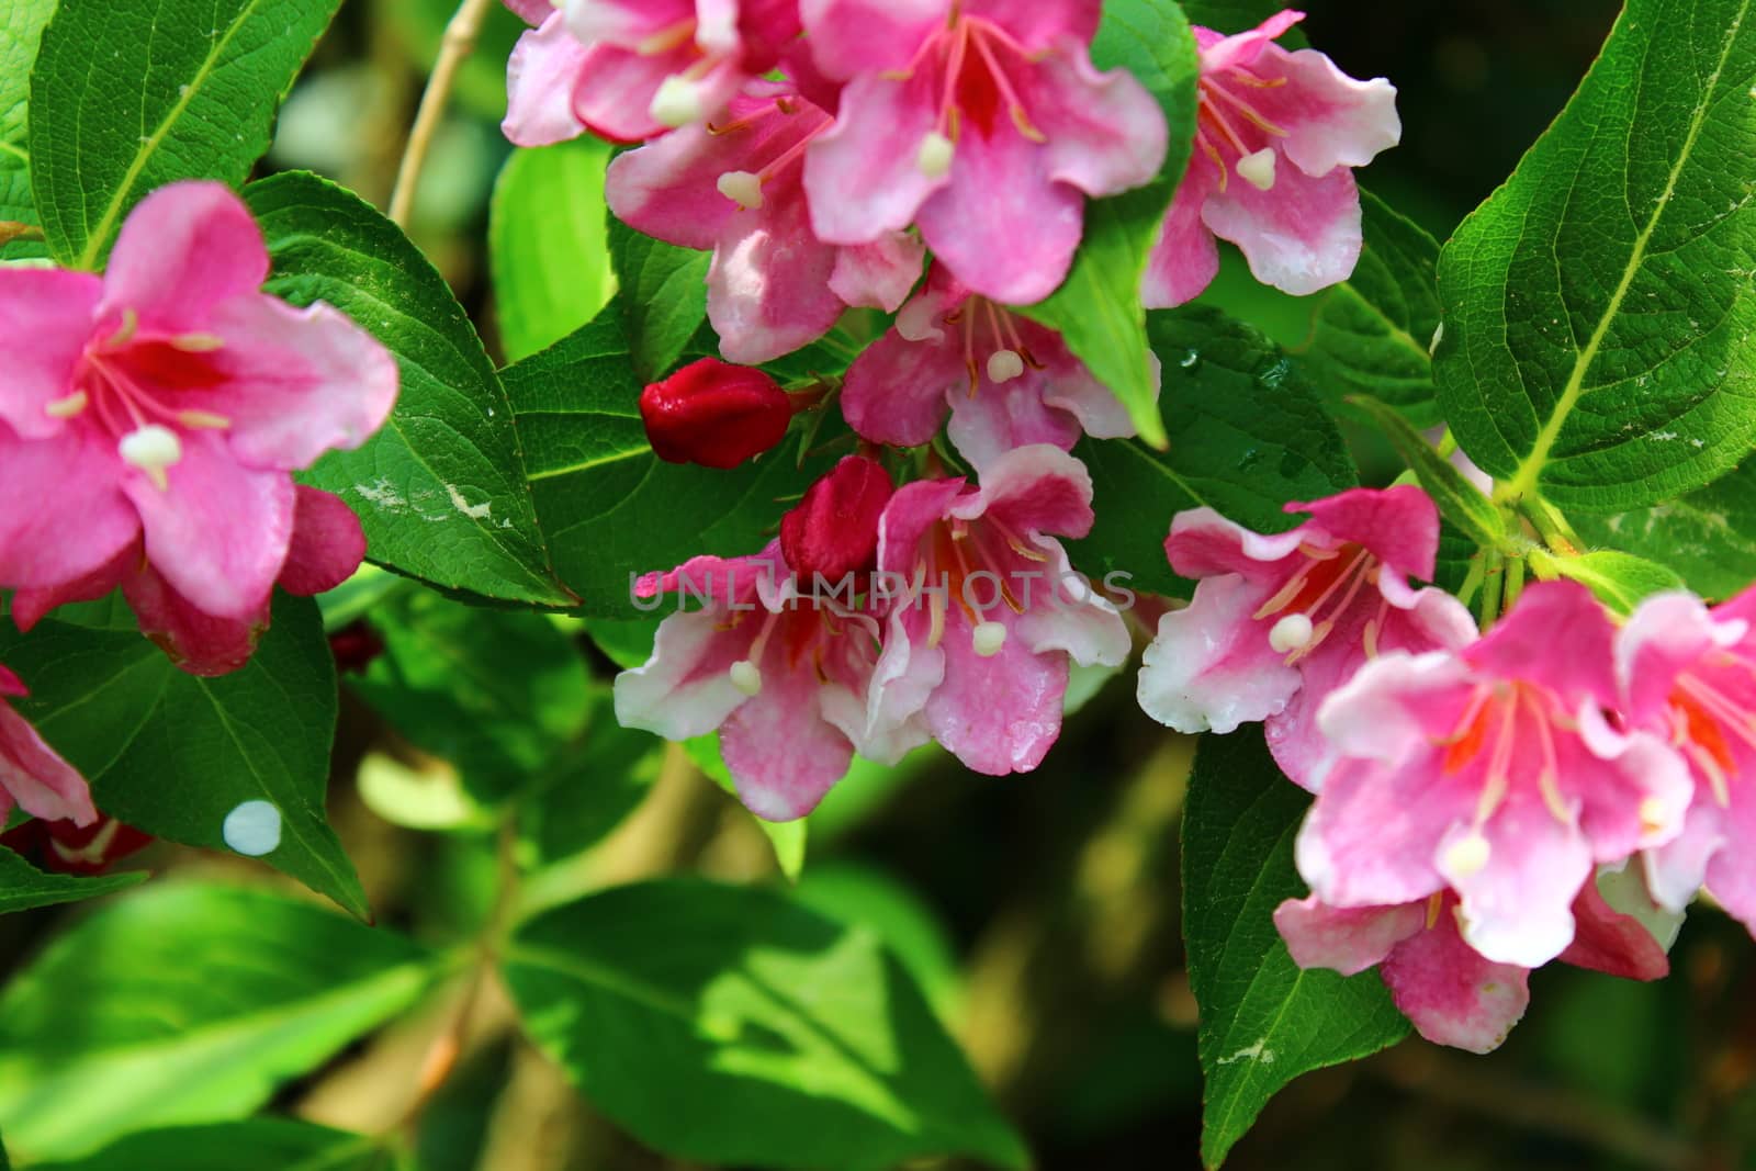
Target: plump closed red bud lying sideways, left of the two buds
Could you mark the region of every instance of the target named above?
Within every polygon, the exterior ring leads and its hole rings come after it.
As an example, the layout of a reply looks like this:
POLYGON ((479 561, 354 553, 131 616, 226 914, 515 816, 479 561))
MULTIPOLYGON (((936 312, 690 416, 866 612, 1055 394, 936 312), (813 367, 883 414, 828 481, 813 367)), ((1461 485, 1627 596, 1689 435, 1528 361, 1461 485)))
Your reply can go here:
POLYGON ((646 439, 660 460, 738 467, 787 434, 792 400, 748 365, 702 358, 641 392, 646 439))

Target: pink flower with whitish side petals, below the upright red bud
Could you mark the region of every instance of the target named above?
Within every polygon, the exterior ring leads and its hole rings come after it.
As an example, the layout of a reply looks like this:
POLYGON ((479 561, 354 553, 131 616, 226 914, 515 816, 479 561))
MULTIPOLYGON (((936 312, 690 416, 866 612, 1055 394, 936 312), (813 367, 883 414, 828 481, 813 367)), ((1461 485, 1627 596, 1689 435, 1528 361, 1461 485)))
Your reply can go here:
POLYGON ((925 741, 869 722, 878 620, 806 590, 780 542, 755 557, 697 557, 648 574, 637 597, 669 592, 706 606, 669 614, 651 658, 615 683, 623 727, 678 741, 718 729, 739 799, 771 822, 815 809, 855 751, 894 764, 925 741))

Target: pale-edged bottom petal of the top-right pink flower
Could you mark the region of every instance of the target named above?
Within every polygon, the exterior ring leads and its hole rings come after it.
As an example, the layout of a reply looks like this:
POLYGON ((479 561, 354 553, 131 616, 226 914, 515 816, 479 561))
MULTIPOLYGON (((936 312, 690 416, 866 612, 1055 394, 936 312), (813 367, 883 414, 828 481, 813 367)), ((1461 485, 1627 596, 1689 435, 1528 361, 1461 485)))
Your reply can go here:
POLYGON ((1233 177, 1208 193, 1201 221, 1243 251, 1257 281, 1294 297, 1345 281, 1359 262, 1359 190, 1345 169, 1313 179, 1280 167, 1268 191, 1233 177))

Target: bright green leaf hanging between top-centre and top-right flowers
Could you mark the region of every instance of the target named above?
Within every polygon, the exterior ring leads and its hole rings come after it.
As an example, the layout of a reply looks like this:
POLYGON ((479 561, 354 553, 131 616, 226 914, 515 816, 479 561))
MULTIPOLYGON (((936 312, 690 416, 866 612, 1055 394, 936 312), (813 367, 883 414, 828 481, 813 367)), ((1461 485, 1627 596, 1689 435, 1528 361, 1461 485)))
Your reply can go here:
POLYGON ((1175 0, 1112 0, 1092 42, 1099 68, 1127 68, 1152 91, 1169 125, 1169 153, 1145 188, 1096 200, 1085 209, 1085 239, 1066 283, 1024 314, 1062 334, 1068 348, 1127 407, 1141 441, 1166 442, 1154 404, 1140 277, 1157 241, 1159 221, 1189 165, 1196 126, 1196 54, 1189 21, 1175 0))

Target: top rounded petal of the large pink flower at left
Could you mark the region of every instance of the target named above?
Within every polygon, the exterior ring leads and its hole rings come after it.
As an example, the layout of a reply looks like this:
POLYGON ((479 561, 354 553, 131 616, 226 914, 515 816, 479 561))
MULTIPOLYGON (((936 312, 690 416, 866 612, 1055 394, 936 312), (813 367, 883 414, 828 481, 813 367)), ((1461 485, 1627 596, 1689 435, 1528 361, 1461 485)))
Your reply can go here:
POLYGON ((132 309, 149 330, 207 332, 216 305, 269 279, 269 249, 223 183, 183 181, 135 204, 104 274, 98 314, 132 309))

